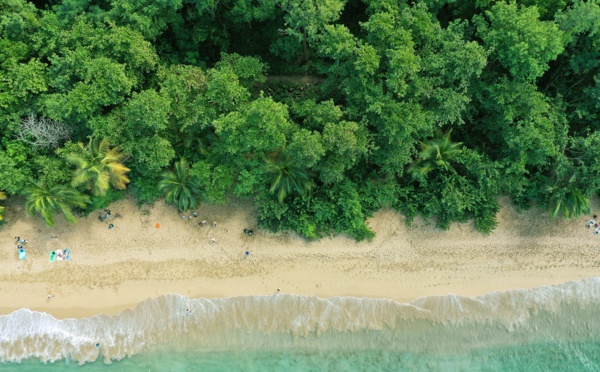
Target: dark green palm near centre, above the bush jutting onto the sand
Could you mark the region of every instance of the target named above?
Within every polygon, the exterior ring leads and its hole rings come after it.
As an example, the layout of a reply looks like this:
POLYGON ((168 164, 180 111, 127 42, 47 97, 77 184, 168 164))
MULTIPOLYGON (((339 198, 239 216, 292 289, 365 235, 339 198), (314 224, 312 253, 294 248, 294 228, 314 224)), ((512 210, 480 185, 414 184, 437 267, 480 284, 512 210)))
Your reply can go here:
POLYGON ((298 165, 285 149, 265 159, 265 171, 270 176, 269 192, 277 195, 280 203, 293 192, 302 194, 315 186, 306 168, 298 165))

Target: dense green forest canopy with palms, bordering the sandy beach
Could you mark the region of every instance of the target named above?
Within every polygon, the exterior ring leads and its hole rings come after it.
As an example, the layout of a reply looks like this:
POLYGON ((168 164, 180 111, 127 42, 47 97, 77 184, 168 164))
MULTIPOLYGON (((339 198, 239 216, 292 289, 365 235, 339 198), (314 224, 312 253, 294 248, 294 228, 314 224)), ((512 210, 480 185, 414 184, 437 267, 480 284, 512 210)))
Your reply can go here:
MULTIPOLYGON (((0 198, 496 225, 600 192, 600 0, 0 0, 0 198)), ((0 216, 3 209, 0 209, 0 216)))

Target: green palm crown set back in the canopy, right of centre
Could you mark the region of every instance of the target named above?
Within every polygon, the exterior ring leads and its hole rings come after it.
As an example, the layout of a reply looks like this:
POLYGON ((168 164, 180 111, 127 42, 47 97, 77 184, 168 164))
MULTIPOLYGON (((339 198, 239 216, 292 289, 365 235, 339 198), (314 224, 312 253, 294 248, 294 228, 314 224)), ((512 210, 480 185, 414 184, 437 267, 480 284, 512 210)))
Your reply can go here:
POLYGON ((452 133, 452 130, 448 131, 448 133, 443 136, 433 138, 427 142, 421 142, 419 158, 413 163, 410 170, 416 170, 422 175, 425 175, 434 169, 443 169, 454 172, 454 168, 452 168, 450 161, 460 154, 462 151, 460 149, 462 143, 453 143, 450 140, 450 133, 452 133))

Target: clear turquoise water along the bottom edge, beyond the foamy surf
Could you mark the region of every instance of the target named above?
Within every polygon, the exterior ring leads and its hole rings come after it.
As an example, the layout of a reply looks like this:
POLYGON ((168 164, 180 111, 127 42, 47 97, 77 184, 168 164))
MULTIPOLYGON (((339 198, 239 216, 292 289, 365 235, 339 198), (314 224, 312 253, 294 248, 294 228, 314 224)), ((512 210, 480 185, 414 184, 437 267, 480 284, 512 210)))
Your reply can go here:
POLYGON ((243 352, 155 352, 111 365, 25 361, 7 371, 597 371, 600 343, 543 343, 434 356, 392 351, 318 350, 243 352))

